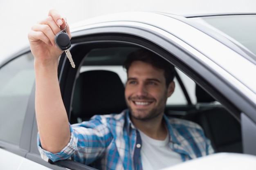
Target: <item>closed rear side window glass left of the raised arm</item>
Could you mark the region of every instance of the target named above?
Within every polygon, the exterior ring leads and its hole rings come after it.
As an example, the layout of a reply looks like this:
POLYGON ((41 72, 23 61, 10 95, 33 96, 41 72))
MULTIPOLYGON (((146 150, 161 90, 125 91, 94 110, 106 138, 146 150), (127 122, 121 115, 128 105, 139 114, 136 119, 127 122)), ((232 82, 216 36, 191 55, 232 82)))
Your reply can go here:
POLYGON ((19 144, 34 79, 34 57, 31 53, 21 55, 0 68, 1 140, 19 144))

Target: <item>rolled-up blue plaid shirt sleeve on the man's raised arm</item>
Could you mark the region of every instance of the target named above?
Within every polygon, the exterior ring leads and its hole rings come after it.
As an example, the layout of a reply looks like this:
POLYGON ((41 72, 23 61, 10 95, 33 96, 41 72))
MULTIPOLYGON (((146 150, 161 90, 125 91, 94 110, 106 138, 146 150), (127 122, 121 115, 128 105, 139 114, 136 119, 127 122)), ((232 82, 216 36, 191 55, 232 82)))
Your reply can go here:
POLYGON ((104 117, 97 116, 90 121, 70 125, 70 141, 61 152, 56 154, 44 150, 41 147, 38 134, 38 150, 41 157, 45 161, 50 159, 55 162, 74 156, 74 160, 80 163, 92 163, 101 157, 108 145, 112 142, 113 135, 106 122, 104 117))

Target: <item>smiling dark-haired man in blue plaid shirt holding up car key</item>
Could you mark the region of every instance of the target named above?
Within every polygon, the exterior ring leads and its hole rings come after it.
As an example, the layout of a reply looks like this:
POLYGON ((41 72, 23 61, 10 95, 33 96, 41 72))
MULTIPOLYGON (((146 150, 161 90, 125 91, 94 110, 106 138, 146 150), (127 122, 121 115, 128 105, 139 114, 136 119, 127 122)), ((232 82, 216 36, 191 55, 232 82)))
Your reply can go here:
MULTIPOLYGON (((200 126, 164 115, 175 88, 174 68, 146 50, 130 54, 125 63, 129 109, 70 126, 57 76, 63 51, 54 42, 64 27, 58 12, 51 10, 28 34, 35 57, 38 148, 43 159, 97 161, 104 170, 157 170, 213 153, 200 126)), ((68 25, 66 31, 71 38, 68 25)))

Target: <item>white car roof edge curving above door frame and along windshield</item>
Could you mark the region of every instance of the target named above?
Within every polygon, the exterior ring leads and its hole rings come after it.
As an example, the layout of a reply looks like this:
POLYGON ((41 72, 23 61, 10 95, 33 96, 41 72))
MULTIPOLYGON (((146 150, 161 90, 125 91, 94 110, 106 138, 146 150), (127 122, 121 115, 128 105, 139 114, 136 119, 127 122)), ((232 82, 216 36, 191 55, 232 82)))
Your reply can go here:
MULTIPOLYGON (((169 29, 170 33, 177 36, 174 32, 174 29, 171 27, 178 27, 182 25, 175 25, 178 22, 174 22, 174 20, 180 21, 184 24, 187 24, 195 29, 200 30, 203 33, 213 37, 214 39, 222 42, 223 44, 229 46, 231 49, 235 50, 237 53, 243 55, 247 58, 247 60, 251 60, 256 64, 256 55, 248 51, 242 44, 234 41, 228 36, 223 36, 219 32, 212 30, 209 26, 205 26, 201 23, 195 22, 195 20, 189 20, 190 18, 201 18, 201 17, 209 17, 209 16, 224 16, 224 15, 256 15, 256 13, 207 13, 207 14, 197 14, 197 15, 175 15, 171 13, 162 13, 162 12, 122 12, 122 13, 112 13, 108 15, 102 15, 94 18, 89 18, 87 20, 83 20, 81 22, 77 22, 72 24, 71 31, 74 34, 76 31, 82 29, 90 29, 90 26, 114 26, 123 24, 144 24, 144 26, 155 26, 157 28, 167 30, 169 29), (170 23, 170 28, 164 27, 166 23, 170 23), (174 26, 175 25, 175 26, 174 26)), ((184 24, 182 28, 184 28, 184 24)), ((177 30, 176 30, 177 31, 177 30)), ((180 30, 179 30, 180 31, 180 30)), ((186 30, 182 30, 183 32, 186 30)), ((187 36, 187 35, 186 35, 187 36)), ((178 37, 180 38, 180 37, 178 37)))

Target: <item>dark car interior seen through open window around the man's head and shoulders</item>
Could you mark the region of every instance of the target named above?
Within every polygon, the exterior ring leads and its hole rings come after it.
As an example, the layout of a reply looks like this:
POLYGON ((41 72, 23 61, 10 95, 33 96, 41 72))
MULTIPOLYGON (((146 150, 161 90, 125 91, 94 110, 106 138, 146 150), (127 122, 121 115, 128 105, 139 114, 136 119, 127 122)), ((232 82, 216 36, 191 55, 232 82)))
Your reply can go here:
MULTIPOLYGON (((70 112, 71 124, 89 120, 93 115, 121 113, 126 109, 125 80, 121 80, 126 78, 126 74, 121 64, 125 57, 136 49, 123 46, 108 47, 92 49, 86 53, 75 81, 70 112), (111 68, 112 66, 119 67, 119 70, 111 68), (124 73, 120 75, 120 71, 124 73)), ((186 102, 167 103, 165 114, 168 117, 194 121, 202 126, 215 152, 242 153, 239 120, 197 84, 192 89, 196 98, 193 102, 186 89, 190 84, 186 83, 182 81, 180 72, 176 71, 175 84, 180 88, 177 90, 180 93, 175 96, 183 95, 186 102)))

